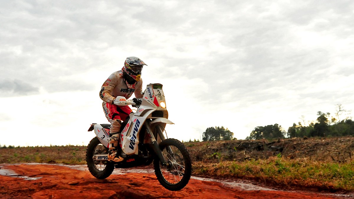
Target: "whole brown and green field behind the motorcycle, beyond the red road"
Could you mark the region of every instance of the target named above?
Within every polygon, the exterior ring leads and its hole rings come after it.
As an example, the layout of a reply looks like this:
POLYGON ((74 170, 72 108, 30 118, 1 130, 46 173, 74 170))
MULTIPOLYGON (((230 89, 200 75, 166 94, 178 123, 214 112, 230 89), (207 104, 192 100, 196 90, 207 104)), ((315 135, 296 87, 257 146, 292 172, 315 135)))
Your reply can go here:
MULTIPOLYGON (((275 142, 284 146, 282 153, 266 148, 245 150, 238 147, 243 142, 185 142, 192 156, 193 175, 247 179, 289 188, 354 191, 352 137, 275 142)), ((85 153, 86 146, 0 146, 0 163, 86 164, 85 153)))

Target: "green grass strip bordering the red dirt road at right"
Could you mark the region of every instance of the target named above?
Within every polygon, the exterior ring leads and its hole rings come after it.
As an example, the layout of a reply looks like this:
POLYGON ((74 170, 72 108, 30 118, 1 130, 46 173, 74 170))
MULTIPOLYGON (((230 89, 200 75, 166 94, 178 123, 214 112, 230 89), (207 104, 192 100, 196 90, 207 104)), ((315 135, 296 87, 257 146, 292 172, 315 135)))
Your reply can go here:
POLYGON ((301 186, 320 190, 354 191, 354 161, 321 163, 281 156, 245 162, 223 161, 217 164, 193 163, 193 175, 216 178, 242 178, 281 186, 301 186))

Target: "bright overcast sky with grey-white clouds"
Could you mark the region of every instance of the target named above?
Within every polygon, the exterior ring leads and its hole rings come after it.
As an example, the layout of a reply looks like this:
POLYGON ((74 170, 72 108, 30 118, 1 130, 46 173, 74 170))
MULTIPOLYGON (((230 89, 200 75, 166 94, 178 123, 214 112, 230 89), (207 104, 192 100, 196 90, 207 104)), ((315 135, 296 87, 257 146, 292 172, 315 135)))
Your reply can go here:
POLYGON ((0 2, 0 145, 87 145, 130 56, 164 85, 179 140, 354 109, 354 1, 0 2))

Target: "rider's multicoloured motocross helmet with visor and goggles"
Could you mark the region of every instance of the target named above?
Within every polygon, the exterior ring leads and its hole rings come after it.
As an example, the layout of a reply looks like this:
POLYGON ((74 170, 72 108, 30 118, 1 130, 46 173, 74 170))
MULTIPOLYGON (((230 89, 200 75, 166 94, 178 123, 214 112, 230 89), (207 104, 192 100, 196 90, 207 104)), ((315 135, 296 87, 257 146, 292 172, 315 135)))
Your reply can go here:
POLYGON ((122 68, 123 76, 129 84, 140 81, 141 70, 146 65, 137 57, 127 57, 122 68))

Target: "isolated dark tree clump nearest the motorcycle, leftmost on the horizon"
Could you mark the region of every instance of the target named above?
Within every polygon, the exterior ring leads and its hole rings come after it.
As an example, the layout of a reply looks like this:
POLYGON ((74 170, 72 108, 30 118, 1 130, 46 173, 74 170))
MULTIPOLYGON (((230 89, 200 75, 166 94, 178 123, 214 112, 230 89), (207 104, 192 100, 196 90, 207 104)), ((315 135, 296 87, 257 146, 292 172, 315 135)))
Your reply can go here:
POLYGON ((222 127, 209 127, 203 133, 203 141, 214 141, 214 140, 231 140, 234 137, 228 128, 222 127))

